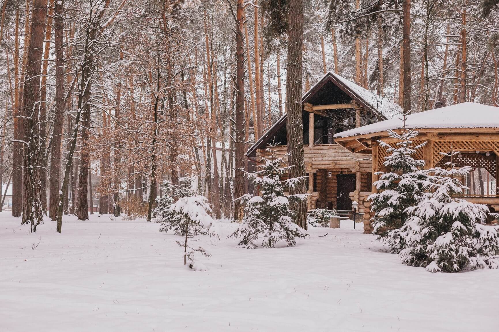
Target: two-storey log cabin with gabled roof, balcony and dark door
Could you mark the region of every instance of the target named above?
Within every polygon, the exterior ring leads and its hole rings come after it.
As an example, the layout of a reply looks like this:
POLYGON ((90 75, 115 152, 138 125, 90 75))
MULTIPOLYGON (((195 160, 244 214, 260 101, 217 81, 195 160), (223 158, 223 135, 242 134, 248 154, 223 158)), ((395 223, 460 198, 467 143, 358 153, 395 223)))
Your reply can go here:
MULTIPOLYGON (((328 72, 302 97, 303 148, 308 174, 308 209, 351 211, 371 192, 371 157, 345 149, 334 134, 400 114, 400 107, 345 78, 328 72)), ((286 114, 247 151, 250 160, 270 157, 269 143, 278 143, 275 157, 286 152, 286 114)))

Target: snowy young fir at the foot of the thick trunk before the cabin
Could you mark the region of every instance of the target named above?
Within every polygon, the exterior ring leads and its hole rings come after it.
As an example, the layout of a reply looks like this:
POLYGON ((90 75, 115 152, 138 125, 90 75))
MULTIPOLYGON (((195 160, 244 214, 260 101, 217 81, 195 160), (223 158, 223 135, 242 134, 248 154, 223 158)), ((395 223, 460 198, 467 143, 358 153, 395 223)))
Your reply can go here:
MULTIPOLYGON (((270 147, 271 149, 271 147, 270 147)), ((245 248, 256 248, 256 241, 261 239, 262 247, 273 248, 278 241, 285 240, 288 246, 296 245, 295 237, 305 237, 306 230, 293 221, 294 211, 289 209, 292 201, 304 201, 307 194, 284 195, 290 187, 306 177, 281 181, 280 176, 288 173, 292 167, 281 167, 282 158, 262 159, 263 165, 256 172, 246 176, 257 186, 260 196, 244 195, 240 198, 245 206, 245 217, 242 225, 230 237, 239 237, 239 245, 245 248)))

